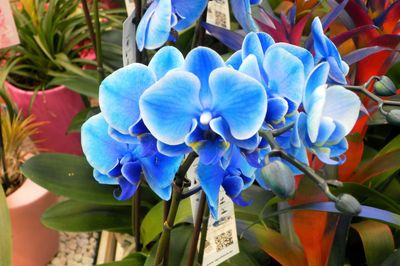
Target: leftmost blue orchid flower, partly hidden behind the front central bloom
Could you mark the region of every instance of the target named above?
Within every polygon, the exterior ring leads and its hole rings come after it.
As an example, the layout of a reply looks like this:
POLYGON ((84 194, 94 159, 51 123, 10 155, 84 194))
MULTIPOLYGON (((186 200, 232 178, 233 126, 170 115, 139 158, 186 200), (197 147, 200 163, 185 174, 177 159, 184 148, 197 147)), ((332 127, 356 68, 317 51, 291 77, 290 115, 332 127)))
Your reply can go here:
POLYGON ((100 85, 101 115, 83 125, 82 147, 95 169, 95 178, 102 184, 120 185, 122 193, 118 199, 133 195, 142 170, 161 198, 170 197, 171 182, 182 156, 168 157, 158 152, 157 140, 141 121, 139 98, 167 72, 181 67, 183 61, 176 48, 164 47, 148 67, 128 65, 106 77, 100 85))

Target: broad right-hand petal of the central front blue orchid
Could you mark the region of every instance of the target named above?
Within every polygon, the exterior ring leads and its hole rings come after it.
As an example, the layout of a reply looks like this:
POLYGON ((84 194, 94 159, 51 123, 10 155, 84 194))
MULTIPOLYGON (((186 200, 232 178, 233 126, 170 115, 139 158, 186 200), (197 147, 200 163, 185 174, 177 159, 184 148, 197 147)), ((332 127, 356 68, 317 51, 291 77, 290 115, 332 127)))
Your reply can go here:
POLYGON ((238 140, 255 135, 267 111, 265 89, 255 79, 229 68, 220 68, 210 76, 212 111, 228 123, 238 140))

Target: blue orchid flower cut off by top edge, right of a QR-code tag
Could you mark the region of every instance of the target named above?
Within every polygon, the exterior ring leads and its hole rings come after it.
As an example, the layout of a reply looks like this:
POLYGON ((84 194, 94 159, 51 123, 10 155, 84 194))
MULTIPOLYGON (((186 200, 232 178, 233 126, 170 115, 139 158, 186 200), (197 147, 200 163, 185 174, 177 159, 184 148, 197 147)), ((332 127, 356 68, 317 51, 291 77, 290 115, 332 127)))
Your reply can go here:
POLYGON ((251 6, 261 4, 262 0, 231 0, 233 15, 245 32, 258 31, 251 15, 251 6))

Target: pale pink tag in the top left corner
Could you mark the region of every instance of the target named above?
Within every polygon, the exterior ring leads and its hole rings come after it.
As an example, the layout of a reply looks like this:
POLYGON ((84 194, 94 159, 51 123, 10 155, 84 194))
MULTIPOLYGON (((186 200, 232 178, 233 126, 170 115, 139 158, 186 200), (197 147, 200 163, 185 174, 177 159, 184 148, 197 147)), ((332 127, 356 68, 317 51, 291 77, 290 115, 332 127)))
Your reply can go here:
POLYGON ((8 0, 0 0, 0 49, 20 43, 8 0))

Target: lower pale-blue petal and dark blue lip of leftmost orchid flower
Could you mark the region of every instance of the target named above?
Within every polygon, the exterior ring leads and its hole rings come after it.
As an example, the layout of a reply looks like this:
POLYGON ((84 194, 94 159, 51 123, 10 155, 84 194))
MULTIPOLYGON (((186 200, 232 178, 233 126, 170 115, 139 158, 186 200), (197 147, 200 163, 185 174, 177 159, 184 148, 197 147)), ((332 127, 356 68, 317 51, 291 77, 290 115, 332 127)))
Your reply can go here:
POLYGON ((134 195, 143 171, 150 188, 163 200, 171 197, 171 184, 183 157, 168 157, 160 153, 147 156, 140 144, 123 143, 109 134, 103 114, 89 118, 82 126, 82 148, 94 178, 100 184, 119 185, 118 200, 134 195))

